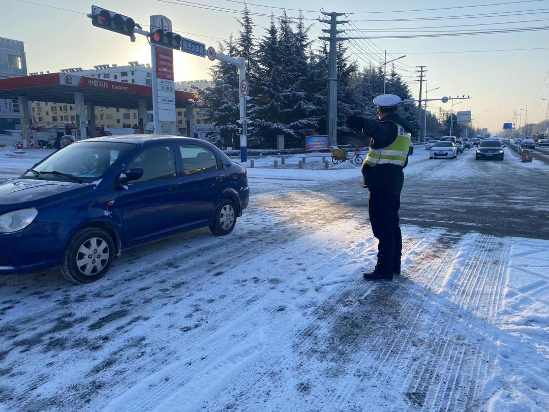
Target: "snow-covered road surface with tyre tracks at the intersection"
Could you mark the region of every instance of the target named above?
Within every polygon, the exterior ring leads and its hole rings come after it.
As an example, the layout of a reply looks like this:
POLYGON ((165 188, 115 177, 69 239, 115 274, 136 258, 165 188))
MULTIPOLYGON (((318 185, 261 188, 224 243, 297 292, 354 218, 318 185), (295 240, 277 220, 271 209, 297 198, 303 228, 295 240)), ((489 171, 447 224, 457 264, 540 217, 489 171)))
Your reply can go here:
POLYGON ((393 282, 361 279, 360 170, 292 165, 249 169, 228 237, 0 278, 0 410, 549 410, 549 174, 507 154, 416 151, 393 282))

